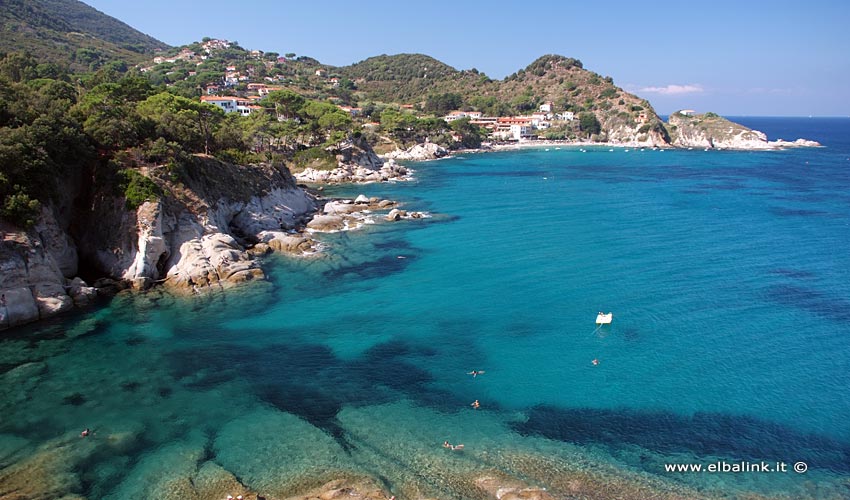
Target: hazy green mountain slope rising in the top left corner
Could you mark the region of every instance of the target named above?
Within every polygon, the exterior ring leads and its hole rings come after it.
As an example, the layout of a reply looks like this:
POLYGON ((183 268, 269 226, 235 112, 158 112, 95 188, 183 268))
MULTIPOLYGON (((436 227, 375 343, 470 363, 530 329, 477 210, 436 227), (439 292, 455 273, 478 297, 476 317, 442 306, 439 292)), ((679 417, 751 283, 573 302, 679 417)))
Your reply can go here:
POLYGON ((0 52, 28 52, 74 71, 116 60, 135 64, 168 47, 77 0, 3 0, 0 23, 0 52))

